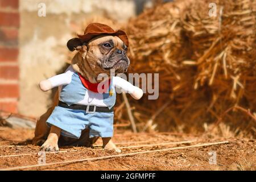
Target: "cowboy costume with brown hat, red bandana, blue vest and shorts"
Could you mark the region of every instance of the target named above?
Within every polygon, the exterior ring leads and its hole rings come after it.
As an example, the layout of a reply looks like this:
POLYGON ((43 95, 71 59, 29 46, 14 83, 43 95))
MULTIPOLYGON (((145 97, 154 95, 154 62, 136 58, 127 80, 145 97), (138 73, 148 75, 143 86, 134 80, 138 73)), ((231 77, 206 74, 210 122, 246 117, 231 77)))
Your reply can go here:
MULTIPOLYGON (((118 36, 128 47, 125 32, 98 23, 90 24, 79 38, 88 42, 94 36, 108 34, 118 36)), ((81 131, 89 127, 89 137, 113 137, 113 106, 115 87, 126 93, 133 93, 136 86, 121 77, 112 77, 104 84, 104 92, 98 92, 99 83, 91 83, 69 66, 65 73, 48 79, 53 87, 59 86, 59 105, 47 119, 48 126, 57 126, 61 135, 80 138, 81 131), (106 86, 108 85, 108 86, 106 86)))

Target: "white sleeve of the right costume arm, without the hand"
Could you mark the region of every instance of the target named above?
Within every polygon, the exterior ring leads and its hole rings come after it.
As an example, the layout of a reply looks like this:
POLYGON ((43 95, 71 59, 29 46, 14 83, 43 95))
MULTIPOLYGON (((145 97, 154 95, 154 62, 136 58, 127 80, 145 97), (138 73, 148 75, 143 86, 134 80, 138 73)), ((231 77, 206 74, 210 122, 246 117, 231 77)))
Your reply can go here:
POLYGON ((117 86, 117 88, 122 89, 125 93, 133 93, 136 89, 136 86, 131 84, 129 81, 126 81, 125 79, 113 76, 113 86, 117 86))

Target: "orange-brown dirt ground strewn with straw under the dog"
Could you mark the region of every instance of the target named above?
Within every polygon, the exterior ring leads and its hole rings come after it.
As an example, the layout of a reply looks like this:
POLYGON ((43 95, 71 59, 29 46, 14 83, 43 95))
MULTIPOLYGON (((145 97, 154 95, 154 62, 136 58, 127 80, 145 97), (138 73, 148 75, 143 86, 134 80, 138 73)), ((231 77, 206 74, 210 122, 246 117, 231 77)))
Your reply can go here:
MULTIPOLYGON (((0 169, 38 164, 40 147, 30 144, 33 136, 34 130, 0 127, 0 169)), ((115 130, 114 134, 114 142, 118 144, 118 147, 122 148, 121 154, 224 140, 228 140, 229 143, 102 160, 31 167, 24 168, 24 170, 256 170, 255 139, 220 138, 174 133, 133 134, 130 131, 123 130, 115 130), (122 148, 184 140, 196 140, 196 142, 190 144, 122 148), (210 155, 208 153, 211 151, 216 152, 217 164, 209 164, 210 155)), ((62 152, 46 154, 46 163, 117 155, 113 151, 101 150, 97 146, 100 144, 101 140, 98 140, 94 148, 61 147, 60 151, 62 152)))

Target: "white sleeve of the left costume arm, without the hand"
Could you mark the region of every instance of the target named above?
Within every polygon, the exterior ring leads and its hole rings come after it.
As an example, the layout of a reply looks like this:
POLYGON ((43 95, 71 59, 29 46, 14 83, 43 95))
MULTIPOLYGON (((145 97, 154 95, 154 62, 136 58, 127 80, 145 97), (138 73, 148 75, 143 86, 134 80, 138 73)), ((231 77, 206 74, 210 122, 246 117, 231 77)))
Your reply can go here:
POLYGON ((74 74, 72 67, 69 67, 65 73, 48 78, 51 82, 52 88, 60 85, 68 85, 72 80, 74 74))

